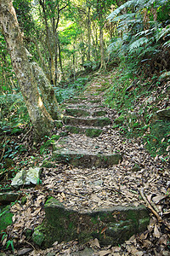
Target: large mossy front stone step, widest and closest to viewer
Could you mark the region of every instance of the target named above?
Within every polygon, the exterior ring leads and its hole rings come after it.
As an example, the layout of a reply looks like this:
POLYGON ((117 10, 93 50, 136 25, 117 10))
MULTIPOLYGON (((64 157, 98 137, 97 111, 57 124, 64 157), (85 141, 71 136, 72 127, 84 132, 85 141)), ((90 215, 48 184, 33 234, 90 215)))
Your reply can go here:
POLYGON ((148 210, 142 205, 77 212, 50 197, 44 209, 45 219, 34 231, 41 233, 44 247, 50 247, 54 241, 77 239, 84 243, 94 238, 99 240, 100 245, 116 246, 147 230, 150 220, 148 210))

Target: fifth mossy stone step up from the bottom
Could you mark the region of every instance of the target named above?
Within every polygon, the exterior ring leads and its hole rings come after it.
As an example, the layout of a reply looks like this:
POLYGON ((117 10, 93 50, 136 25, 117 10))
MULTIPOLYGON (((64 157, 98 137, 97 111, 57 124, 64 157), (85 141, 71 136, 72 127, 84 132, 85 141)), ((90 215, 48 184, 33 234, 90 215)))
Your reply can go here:
POLYGON ((65 114, 74 117, 87 117, 87 116, 104 116, 107 112, 105 110, 88 111, 81 108, 66 108, 65 114))

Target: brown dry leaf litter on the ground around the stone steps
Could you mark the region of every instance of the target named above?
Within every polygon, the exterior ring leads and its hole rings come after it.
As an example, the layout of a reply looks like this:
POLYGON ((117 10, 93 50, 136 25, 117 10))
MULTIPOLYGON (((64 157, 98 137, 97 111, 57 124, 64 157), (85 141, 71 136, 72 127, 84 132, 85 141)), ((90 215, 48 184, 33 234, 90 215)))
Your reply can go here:
MULTIPOLYGON (((87 89, 110 83, 111 75, 98 75, 88 83, 87 89)), ((103 99, 103 94, 102 90, 98 90, 99 98, 103 99)), ((107 107, 105 110, 107 116, 114 121, 116 111, 107 107)), ((65 131, 65 128, 62 130, 65 131)), ((163 163, 159 157, 152 158, 140 138, 127 139, 112 125, 108 125, 97 138, 73 134, 69 137, 73 148, 82 148, 83 144, 93 151, 97 145, 102 152, 111 152, 112 149, 121 152, 122 162, 109 168, 79 168, 62 163, 54 163, 51 168, 42 167, 42 184, 35 188, 20 189, 22 195, 26 195, 26 204, 18 201, 11 207, 14 213, 13 224, 6 230, 6 241, 13 240, 14 252, 4 251, 2 247, 0 255, 170 255, 170 180, 167 163, 163 163), (65 207, 77 211, 117 205, 137 207, 144 204, 150 210, 150 224, 144 233, 132 236, 116 247, 102 247, 94 239, 85 244, 79 244, 78 241, 56 241, 52 247, 41 249, 26 239, 26 229, 34 230, 42 223, 45 216, 43 206, 49 195, 65 207)), ((52 148, 49 147, 48 154, 40 155, 34 151, 27 155, 26 161, 29 166, 41 167, 44 160, 51 161, 51 158, 52 148)), ((6 241, 3 240, 4 246, 6 241)))

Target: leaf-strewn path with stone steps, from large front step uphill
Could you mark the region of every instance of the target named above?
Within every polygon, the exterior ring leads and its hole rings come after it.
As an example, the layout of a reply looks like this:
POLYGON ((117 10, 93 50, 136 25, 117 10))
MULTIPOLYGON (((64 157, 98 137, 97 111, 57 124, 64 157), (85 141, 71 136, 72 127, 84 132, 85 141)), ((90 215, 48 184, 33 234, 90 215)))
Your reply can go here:
POLYGON ((51 178, 51 189, 60 193, 45 205, 48 224, 55 227, 53 242, 97 237, 101 245, 120 244, 149 224, 140 192, 159 196, 166 186, 161 163, 141 142, 112 129, 115 113, 105 106, 104 91, 105 82, 94 78, 80 96, 65 102, 69 134, 54 143, 53 160, 70 167, 51 178))

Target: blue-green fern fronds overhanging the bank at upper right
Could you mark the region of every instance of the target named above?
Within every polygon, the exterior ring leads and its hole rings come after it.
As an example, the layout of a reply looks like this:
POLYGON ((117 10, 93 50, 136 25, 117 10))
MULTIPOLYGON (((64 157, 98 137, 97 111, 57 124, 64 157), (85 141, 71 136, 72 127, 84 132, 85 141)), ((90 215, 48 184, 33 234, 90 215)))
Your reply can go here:
MULTIPOLYGON (((131 0, 109 15, 108 19, 117 23, 117 34, 121 35, 114 39, 109 51, 118 53, 129 72, 151 76, 170 68, 166 48, 170 45, 169 26, 164 26, 159 18, 161 12, 167 13, 166 5, 167 1, 162 0, 131 0), (125 9, 126 14, 122 15, 125 9)), ((169 22, 169 17, 166 21, 169 22)))

